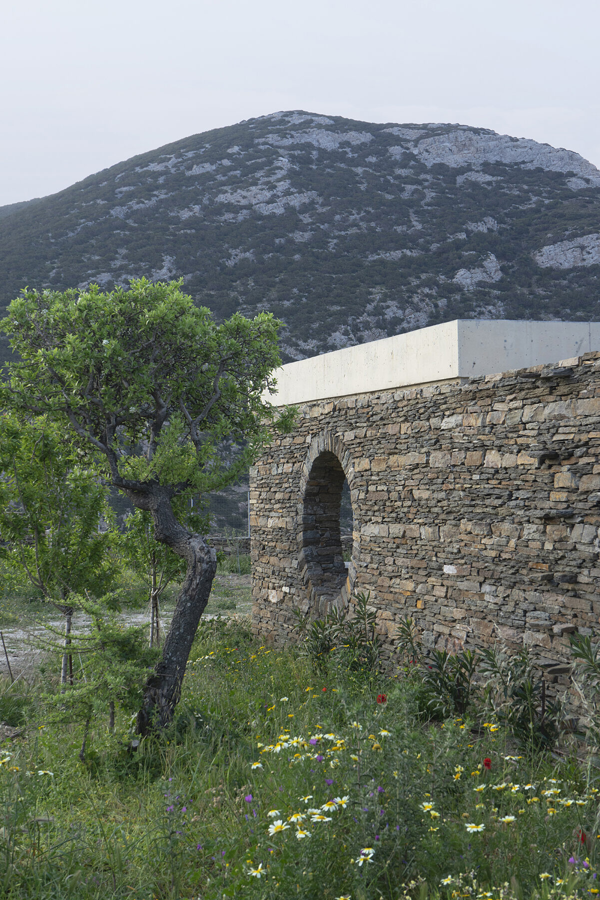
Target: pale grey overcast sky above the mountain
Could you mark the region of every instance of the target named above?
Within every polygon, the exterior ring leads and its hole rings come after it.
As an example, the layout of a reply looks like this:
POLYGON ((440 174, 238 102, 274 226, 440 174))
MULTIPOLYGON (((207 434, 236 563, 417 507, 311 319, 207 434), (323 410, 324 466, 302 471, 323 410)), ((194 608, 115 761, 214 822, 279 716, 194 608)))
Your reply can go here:
POLYGON ((600 167, 597 0, 21 0, 0 14, 0 205, 284 109, 456 121, 600 167))

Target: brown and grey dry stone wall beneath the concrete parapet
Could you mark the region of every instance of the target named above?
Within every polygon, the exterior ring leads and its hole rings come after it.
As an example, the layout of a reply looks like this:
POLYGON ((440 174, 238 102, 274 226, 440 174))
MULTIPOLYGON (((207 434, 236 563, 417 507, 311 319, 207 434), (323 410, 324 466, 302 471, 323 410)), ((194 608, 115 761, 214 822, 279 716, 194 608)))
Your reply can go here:
POLYGON ((389 653, 410 616, 428 646, 564 661, 600 617, 599 454, 599 353, 302 406, 251 471, 255 633, 283 644, 294 608, 371 591, 389 653), (351 490, 347 571, 327 464, 351 490))

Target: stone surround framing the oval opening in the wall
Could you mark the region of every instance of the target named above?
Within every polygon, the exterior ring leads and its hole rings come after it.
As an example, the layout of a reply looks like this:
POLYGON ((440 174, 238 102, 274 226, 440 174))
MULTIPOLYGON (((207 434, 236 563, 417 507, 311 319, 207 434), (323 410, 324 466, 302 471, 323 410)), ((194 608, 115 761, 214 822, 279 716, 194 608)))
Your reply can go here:
POLYGON ((307 591, 301 605, 316 617, 345 608, 354 591, 360 521, 354 465, 343 441, 327 431, 313 437, 302 466, 298 504, 298 563, 307 591), (353 505, 352 560, 346 569, 340 536, 342 488, 348 481, 353 505))

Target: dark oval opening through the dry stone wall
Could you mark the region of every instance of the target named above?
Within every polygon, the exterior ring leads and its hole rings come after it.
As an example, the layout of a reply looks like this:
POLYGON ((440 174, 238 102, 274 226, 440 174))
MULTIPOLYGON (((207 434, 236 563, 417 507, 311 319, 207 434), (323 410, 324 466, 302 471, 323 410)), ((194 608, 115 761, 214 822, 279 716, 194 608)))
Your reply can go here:
POLYGON ((337 456, 328 451, 318 455, 302 498, 300 535, 300 571, 309 590, 309 608, 318 615, 327 612, 347 577, 342 531, 352 534, 352 504, 349 490, 343 496, 344 485, 337 456))

